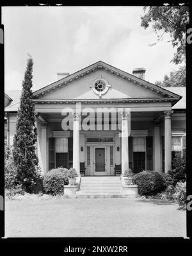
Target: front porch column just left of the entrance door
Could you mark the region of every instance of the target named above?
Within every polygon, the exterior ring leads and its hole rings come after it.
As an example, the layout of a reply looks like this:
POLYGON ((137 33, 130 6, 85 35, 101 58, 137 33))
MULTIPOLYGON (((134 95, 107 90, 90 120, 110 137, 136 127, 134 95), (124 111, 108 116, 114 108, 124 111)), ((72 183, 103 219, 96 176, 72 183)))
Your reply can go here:
POLYGON ((79 119, 80 114, 74 113, 74 136, 73 136, 73 167, 77 171, 77 175, 80 175, 80 162, 79 162, 79 119))

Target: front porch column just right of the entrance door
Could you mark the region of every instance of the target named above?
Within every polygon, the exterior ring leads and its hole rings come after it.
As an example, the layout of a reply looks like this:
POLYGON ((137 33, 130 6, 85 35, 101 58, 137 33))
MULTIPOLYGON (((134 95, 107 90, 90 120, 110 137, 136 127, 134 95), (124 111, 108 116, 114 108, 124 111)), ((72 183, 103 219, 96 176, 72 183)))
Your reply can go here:
POLYGON ((122 114, 122 176, 129 169, 129 145, 128 145, 128 113, 122 114))

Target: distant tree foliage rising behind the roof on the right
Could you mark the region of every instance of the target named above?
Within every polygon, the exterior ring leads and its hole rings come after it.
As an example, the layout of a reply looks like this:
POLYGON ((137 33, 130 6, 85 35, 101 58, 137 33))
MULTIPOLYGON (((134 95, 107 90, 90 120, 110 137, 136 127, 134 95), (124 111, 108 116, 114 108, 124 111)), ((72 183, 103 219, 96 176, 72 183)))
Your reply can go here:
POLYGON ((164 76, 163 81, 156 81, 156 85, 161 87, 184 87, 186 86, 186 67, 180 66, 177 71, 172 71, 164 76))

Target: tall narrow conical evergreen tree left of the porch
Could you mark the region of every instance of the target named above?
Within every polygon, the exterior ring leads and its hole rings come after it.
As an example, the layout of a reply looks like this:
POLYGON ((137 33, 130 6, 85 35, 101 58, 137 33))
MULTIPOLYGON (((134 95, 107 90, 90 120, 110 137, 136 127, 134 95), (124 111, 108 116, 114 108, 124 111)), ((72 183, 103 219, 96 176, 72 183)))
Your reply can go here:
POLYGON ((27 192, 33 191, 38 177, 38 158, 35 153, 36 127, 35 105, 32 98, 33 60, 28 59, 18 111, 16 133, 13 140, 13 158, 17 167, 17 181, 27 192))

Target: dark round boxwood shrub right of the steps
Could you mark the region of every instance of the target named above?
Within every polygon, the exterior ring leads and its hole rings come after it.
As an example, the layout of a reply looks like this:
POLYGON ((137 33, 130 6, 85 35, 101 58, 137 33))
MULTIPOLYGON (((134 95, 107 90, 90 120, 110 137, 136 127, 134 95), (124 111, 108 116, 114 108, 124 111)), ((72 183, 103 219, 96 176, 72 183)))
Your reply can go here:
POLYGON ((166 182, 157 171, 142 171, 133 176, 133 182, 138 185, 140 195, 155 195, 164 191, 166 182))

